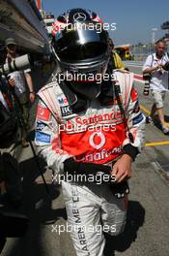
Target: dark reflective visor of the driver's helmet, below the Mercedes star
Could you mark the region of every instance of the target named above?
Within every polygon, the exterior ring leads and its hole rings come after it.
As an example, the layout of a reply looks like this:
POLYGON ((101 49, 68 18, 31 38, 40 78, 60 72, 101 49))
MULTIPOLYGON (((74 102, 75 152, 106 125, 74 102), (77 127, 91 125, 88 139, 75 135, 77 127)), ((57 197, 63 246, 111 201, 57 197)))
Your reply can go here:
POLYGON ((107 32, 98 31, 96 28, 89 30, 89 27, 77 27, 60 31, 59 39, 56 34, 55 50, 63 62, 76 63, 99 57, 108 48, 107 32))

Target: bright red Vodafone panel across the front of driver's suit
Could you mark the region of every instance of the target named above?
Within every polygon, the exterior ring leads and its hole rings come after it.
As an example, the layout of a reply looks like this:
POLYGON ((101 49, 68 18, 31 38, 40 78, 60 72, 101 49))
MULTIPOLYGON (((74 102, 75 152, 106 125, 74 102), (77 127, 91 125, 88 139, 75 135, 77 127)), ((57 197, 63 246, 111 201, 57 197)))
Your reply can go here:
POLYGON ((77 161, 104 164, 123 153, 126 139, 124 124, 116 125, 116 130, 84 131, 68 134, 62 132, 62 149, 73 155, 77 161), (85 146, 84 146, 85 145, 85 146))

